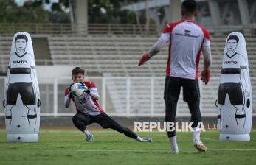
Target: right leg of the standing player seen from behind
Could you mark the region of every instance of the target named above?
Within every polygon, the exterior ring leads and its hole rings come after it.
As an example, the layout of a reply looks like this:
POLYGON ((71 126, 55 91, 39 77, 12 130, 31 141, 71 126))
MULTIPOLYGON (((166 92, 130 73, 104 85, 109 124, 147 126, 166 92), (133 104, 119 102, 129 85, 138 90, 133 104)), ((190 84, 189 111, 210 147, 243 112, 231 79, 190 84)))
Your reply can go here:
POLYGON ((194 147, 200 152, 206 151, 207 147, 201 142, 200 133, 201 130, 198 126, 198 122, 201 122, 200 111, 200 90, 198 80, 186 80, 183 86, 184 101, 187 102, 190 109, 191 122, 193 127, 193 144, 194 147))

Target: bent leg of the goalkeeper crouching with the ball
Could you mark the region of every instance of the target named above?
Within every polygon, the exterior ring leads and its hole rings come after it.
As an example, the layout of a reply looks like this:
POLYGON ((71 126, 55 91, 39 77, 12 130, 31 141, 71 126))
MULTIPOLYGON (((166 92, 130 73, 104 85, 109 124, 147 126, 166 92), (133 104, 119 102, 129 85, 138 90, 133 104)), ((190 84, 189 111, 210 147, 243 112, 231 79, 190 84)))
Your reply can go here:
POLYGON ((86 141, 93 141, 93 135, 86 129, 86 125, 92 123, 89 116, 82 113, 76 113, 72 118, 72 122, 78 130, 82 131, 86 135, 86 141))

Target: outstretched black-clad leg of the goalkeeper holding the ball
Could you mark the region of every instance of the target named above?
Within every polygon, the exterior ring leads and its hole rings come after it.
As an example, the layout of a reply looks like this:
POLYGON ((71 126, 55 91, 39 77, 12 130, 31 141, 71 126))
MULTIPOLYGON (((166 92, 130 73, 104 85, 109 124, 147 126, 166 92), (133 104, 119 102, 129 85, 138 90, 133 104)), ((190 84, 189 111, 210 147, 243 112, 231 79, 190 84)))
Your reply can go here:
POLYGON ((111 128, 113 130, 117 130, 117 132, 125 134, 125 136, 128 136, 129 138, 134 138, 137 141, 151 142, 151 138, 144 139, 139 137, 138 135, 136 135, 136 133, 134 133, 128 127, 122 126, 113 118, 111 118, 111 116, 108 116, 106 113, 101 113, 100 115, 94 116, 94 121, 100 124, 100 126, 103 127, 104 129, 111 128))

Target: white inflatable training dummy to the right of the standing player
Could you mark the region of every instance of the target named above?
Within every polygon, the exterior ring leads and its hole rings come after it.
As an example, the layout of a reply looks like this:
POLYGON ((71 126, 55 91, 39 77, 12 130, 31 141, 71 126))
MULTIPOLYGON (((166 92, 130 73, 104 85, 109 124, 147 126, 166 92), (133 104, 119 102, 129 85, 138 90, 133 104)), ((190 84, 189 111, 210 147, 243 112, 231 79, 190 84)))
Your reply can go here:
POLYGON ((218 88, 220 141, 249 141, 252 127, 252 89, 246 42, 238 32, 229 34, 218 88))

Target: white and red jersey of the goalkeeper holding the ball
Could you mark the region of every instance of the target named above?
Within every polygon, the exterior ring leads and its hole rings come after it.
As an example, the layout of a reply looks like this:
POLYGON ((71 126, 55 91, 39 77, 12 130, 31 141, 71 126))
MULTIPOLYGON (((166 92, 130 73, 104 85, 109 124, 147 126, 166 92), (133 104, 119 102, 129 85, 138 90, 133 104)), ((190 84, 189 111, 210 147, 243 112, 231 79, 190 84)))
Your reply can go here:
MULTIPOLYGON (((98 95, 97 88, 94 85, 94 82, 85 81, 83 82, 91 91, 91 93, 98 95)), ((69 88, 65 90, 65 101, 68 99, 69 88)), ((75 102, 75 106, 77 108, 77 113, 86 113, 89 115, 99 115, 100 113, 104 113, 104 110, 100 108, 98 102, 93 99, 86 92, 83 93, 82 96, 72 96, 72 101, 75 102)))

